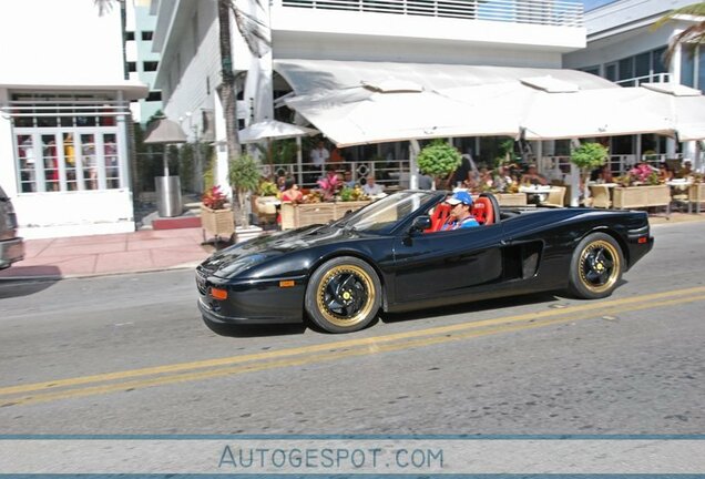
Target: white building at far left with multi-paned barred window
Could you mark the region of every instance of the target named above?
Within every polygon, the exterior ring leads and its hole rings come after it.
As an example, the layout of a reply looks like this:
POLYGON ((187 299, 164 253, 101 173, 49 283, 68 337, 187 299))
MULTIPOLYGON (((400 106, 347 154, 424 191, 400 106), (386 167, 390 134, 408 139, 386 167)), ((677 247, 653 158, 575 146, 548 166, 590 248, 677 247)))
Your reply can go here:
POLYGON ((146 86, 124 80, 120 7, 3 1, 0 18, 0 183, 20 234, 134 231, 129 101, 146 86))

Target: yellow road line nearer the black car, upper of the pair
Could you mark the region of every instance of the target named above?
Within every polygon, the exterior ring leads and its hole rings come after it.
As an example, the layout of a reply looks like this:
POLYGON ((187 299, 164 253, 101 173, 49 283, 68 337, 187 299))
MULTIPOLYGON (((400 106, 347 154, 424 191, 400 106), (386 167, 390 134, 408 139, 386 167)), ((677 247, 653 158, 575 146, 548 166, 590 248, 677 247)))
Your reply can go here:
POLYGON ((218 366, 229 366, 229 365, 248 363, 248 361, 257 361, 263 359, 274 359, 274 358, 280 358, 280 357, 303 355, 303 354, 326 351, 329 349, 366 346, 370 344, 396 342, 399 339, 423 337, 423 336, 430 336, 430 335, 437 335, 437 334, 440 335, 440 334, 456 333, 456 332, 460 332, 464 329, 472 329, 472 328, 497 325, 497 324, 515 323, 515 322, 522 322, 527 319, 539 319, 539 318, 545 318, 545 317, 562 316, 573 312, 602 309, 602 308, 616 306, 616 305, 643 303, 648 300, 656 300, 656 299, 675 297, 675 296, 693 295, 698 293, 705 293, 705 286, 680 289, 674 292, 654 293, 650 295, 642 295, 642 296, 622 298, 622 299, 612 299, 612 300, 599 302, 599 303, 592 302, 589 304, 570 306, 562 309, 549 309, 549 310, 543 310, 539 313, 525 313, 521 315, 505 316, 505 317, 499 317, 493 319, 483 319, 483 320, 472 322, 472 323, 461 323, 461 324, 449 325, 449 326, 437 326, 437 327, 427 328, 427 329, 417 329, 417 330, 405 332, 405 333, 396 333, 396 334, 390 334, 386 336, 374 336, 374 337, 367 337, 367 338, 347 339, 347 340, 339 340, 334 343, 302 346, 302 347, 295 347, 295 348, 266 351, 266 353, 254 353, 248 355, 231 356, 225 358, 205 359, 200 361, 180 363, 180 364, 155 366, 155 367, 140 368, 140 369, 129 369, 129 370, 115 371, 115 373, 105 373, 105 374, 91 375, 91 376, 81 376, 81 377, 74 377, 74 378, 68 378, 68 379, 58 379, 53 381, 34 383, 34 384, 20 385, 20 386, 8 386, 8 387, 0 388, 0 396, 13 395, 19 393, 31 393, 35 390, 55 389, 61 387, 79 386, 79 385, 85 385, 85 384, 91 384, 96 381, 110 381, 110 380, 127 379, 127 378, 135 378, 135 377, 142 377, 142 376, 173 374, 173 373, 180 373, 180 371, 193 370, 193 369, 205 369, 205 368, 212 368, 212 367, 218 367, 218 366))

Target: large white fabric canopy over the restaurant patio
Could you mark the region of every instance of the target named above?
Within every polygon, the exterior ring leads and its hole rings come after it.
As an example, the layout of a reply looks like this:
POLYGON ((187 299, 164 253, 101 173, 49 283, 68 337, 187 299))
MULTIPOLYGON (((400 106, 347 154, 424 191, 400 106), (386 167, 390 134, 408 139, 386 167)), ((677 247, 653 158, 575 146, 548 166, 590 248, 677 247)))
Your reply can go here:
POLYGON ((691 123, 676 122, 664 93, 651 92, 661 95, 654 99, 643 88, 621 88, 574 70, 316 60, 275 64, 296 93, 286 104, 338 146, 448 136, 673 134, 676 129, 683 129, 685 140, 705 123, 696 114, 691 123))

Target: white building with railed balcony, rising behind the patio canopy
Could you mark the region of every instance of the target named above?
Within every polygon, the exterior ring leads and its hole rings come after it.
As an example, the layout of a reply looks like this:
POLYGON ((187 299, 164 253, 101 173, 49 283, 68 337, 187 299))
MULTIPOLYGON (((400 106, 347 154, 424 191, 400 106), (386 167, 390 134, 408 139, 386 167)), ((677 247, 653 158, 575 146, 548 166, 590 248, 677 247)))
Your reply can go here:
MULTIPOLYGON (((562 55, 585 45, 578 0, 236 0, 241 23, 258 26, 253 55, 232 22, 233 68, 239 81, 241 126, 273 118, 273 91, 288 84, 277 61, 337 60, 561 68, 562 55), (262 6, 258 6, 260 3, 262 6), (270 48, 262 38, 269 38, 270 48), (273 67, 274 65, 274 67, 273 67), (274 70, 274 73, 273 73, 274 70)), ((156 84, 172 120, 215 111, 224 137, 217 1, 152 0, 153 44, 162 55, 156 84)), ((289 68, 287 75, 292 74, 289 68)), ((310 86, 310 85, 309 85, 310 86)), ((198 128, 204 125, 198 123, 198 128)), ((324 132, 325 133, 325 132, 324 132)), ((218 157, 222 184, 226 165, 218 157)))

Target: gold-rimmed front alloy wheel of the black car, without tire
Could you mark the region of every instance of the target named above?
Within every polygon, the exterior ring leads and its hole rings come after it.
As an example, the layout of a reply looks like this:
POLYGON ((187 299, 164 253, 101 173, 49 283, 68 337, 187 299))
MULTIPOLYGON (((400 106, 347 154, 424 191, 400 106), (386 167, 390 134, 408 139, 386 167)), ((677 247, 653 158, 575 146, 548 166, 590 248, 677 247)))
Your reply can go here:
POLYGON ((316 293, 316 306, 320 314, 339 327, 350 327, 365 320, 377 294, 370 275, 355 265, 330 268, 318 284, 316 293))

